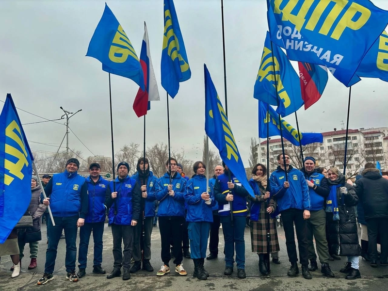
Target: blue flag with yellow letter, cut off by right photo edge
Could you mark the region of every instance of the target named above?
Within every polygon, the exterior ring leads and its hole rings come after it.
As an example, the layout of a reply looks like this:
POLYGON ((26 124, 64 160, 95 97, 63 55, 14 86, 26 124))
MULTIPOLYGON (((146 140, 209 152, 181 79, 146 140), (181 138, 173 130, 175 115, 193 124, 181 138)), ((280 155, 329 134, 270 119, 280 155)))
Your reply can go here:
POLYGON ((388 33, 381 33, 358 66, 358 77, 379 78, 388 81, 388 33))

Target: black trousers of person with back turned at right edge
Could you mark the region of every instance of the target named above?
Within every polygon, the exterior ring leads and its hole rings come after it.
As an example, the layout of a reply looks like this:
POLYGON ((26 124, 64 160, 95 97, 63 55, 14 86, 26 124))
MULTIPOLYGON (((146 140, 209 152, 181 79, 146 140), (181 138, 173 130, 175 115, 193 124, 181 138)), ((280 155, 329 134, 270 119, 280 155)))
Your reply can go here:
POLYGON ((372 218, 367 220, 368 226, 368 251, 371 260, 378 259, 377 236, 380 236, 381 254, 380 261, 388 259, 388 218, 372 218))

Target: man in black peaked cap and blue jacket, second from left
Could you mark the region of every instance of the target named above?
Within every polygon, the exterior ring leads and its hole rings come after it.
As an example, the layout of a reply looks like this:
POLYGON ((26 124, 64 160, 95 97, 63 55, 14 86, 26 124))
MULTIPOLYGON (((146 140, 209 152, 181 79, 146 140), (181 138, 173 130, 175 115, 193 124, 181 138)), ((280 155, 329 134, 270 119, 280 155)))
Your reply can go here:
POLYGON ((89 209, 85 217, 85 224, 80 229, 80 247, 78 251, 78 277, 82 278, 86 275, 86 262, 88 255, 88 247, 90 235, 93 230, 93 273, 105 274, 105 270, 101 268, 102 263, 102 235, 104 234, 104 224, 106 209, 104 205, 105 194, 108 187, 108 181, 100 176, 101 167, 97 162, 89 166, 90 176, 86 178, 88 186, 89 209))

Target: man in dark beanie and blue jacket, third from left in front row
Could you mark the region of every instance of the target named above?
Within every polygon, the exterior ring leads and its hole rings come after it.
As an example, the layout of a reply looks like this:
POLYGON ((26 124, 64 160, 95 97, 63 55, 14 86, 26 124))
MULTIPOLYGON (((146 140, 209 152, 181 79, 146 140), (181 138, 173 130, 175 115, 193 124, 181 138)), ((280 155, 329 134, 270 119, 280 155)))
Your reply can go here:
POLYGON ((105 206, 109 208, 109 224, 112 226, 114 259, 113 271, 107 278, 120 276, 122 266, 123 280, 129 280, 133 228, 139 220, 142 194, 139 183, 128 176, 127 162, 120 162, 117 165, 117 173, 117 178, 109 182, 105 196, 105 206), (124 242, 123 252, 121 242, 124 242))

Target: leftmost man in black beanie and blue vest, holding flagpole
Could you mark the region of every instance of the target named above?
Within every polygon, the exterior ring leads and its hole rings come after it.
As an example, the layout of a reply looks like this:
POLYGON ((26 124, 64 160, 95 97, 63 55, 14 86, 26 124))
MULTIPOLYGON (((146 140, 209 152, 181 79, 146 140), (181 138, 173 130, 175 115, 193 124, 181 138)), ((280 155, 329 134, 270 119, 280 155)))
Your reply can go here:
POLYGON ((53 279, 58 243, 65 230, 66 236, 66 279, 78 281, 75 273, 77 257, 77 227, 84 225, 88 213, 88 191, 85 178, 77 174, 80 162, 71 158, 66 162, 65 172, 55 174, 45 188, 47 198, 44 205, 50 205, 55 226, 48 221, 49 246, 46 251, 45 273, 38 285, 46 284, 53 279))

